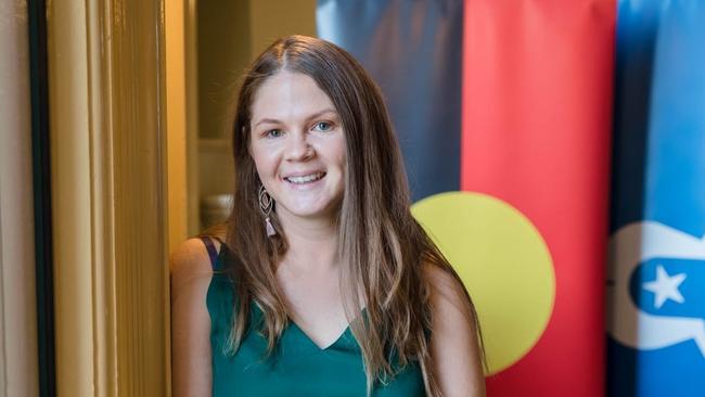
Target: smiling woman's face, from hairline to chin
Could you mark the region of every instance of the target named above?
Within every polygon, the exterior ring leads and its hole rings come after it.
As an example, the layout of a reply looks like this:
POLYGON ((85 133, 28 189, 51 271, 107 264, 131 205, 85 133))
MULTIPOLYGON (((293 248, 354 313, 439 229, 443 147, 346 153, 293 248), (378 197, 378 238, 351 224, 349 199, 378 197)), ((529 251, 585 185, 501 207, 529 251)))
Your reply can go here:
POLYGON ((345 189, 345 135, 312 78, 279 72, 255 93, 249 153, 282 217, 333 218, 345 189))

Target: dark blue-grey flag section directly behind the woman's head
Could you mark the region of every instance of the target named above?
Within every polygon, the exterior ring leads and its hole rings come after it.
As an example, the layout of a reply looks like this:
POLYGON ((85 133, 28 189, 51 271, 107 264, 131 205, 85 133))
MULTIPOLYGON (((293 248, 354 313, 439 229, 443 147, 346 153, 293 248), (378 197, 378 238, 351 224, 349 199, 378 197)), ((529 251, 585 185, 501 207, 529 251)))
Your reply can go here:
POLYGON ((319 0, 318 36, 386 95, 413 200, 460 190, 462 0, 319 0))

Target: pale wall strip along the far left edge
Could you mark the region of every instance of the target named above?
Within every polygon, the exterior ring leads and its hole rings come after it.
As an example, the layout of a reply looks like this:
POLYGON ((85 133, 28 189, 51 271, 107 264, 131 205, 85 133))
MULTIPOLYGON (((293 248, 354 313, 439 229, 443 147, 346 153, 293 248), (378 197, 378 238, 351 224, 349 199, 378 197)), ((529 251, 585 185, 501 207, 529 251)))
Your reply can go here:
POLYGON ((26 0, 0 0, 0 396, 38 395, 26 0))

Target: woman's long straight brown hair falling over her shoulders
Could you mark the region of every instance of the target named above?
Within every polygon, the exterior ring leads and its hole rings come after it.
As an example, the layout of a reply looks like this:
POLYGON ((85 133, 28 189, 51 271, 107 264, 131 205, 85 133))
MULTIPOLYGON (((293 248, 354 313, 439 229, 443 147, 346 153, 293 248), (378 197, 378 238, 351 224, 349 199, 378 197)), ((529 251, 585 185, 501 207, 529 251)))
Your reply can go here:
MULTIPOLYGON (((238 294, 229 350, 234 353, 242 342, 253 302, 264 312, 261 333, 269 353, 287 323, 274 278, 287 240, 273 213, 278 234, 268 238, 265 232, 257 204, 260 182, 249 155, 254 95, 282 69, 311 77, 330 97, 345 131, 345 193, 337 217, 341 291, 348 319, 354 319, 350 331, 362 350, 368 394, 375 382, 386 383, 416 360, 426 394, 439 396, 428 346, 431 285, 423 267, 435 266, 460 279, 411 216, 401 153, 380 89, 349 53, 311 37, 272 43, 246 73, 238 98, 232 131, 235 189, 226 240, 236 257, 236 266, 227 271, 238 294), (362 305, 366 315, 358 316, 362 305)), ((478 329, 472 310, 470 321, 478 329)))

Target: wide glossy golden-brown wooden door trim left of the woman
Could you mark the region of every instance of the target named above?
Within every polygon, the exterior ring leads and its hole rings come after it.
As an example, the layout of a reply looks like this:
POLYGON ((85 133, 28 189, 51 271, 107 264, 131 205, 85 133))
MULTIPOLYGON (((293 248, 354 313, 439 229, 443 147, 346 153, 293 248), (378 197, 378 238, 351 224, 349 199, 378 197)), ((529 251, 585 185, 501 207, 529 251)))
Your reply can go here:
POLYGON ((49 4, 57 394, 168 395, 164 3, 49 4))

